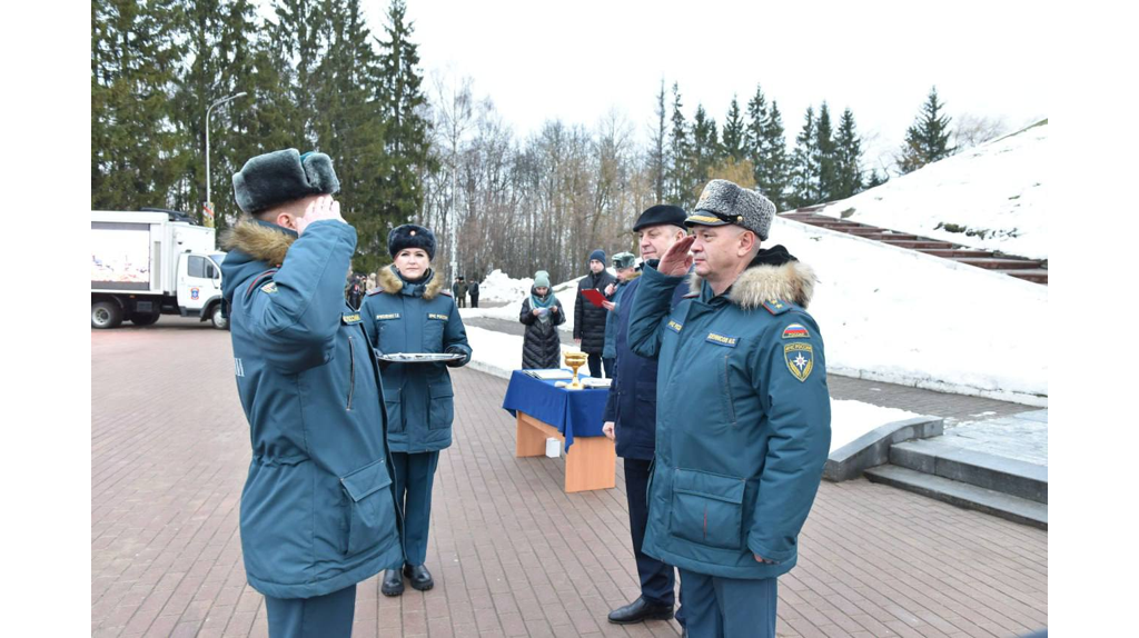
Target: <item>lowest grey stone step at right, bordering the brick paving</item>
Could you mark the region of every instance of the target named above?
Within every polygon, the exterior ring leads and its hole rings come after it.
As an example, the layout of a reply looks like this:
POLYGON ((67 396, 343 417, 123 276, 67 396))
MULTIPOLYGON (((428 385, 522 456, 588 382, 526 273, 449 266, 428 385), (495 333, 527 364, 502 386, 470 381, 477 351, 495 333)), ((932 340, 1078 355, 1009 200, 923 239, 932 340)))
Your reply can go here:
POLYGON ((898 465, 871 467, 863 475, 871 482, 920 494, 957 507, 976 509, 1042 530, 1048 529, 1048 506, 1042 503, 924 474, 898 465))

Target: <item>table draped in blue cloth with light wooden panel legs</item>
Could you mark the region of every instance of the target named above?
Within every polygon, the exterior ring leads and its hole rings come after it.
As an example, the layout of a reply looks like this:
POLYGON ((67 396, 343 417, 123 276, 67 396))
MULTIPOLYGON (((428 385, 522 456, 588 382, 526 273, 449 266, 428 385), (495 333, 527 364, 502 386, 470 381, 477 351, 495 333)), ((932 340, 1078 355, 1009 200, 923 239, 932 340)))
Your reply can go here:
POLYGON ((556 381, 534 379, 516 370, 502 398, 502 409, 517 420, 515 456, 543 456, 546 439, 565 446, 565 491, 616 486, 617 453, 603 432, 607 389, 566 390, 556 381))

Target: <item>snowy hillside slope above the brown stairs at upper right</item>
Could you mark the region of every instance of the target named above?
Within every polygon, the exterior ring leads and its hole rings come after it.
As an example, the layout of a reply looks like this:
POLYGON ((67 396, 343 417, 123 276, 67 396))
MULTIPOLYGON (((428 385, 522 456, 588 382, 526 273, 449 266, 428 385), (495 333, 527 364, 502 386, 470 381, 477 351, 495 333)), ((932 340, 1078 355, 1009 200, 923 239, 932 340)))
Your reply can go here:
POLYGON ((819 213, 1047 259, 1048 148, 1044 121, 829 204, 819 213), (960 230, 951 232, 944 224, 960 230))

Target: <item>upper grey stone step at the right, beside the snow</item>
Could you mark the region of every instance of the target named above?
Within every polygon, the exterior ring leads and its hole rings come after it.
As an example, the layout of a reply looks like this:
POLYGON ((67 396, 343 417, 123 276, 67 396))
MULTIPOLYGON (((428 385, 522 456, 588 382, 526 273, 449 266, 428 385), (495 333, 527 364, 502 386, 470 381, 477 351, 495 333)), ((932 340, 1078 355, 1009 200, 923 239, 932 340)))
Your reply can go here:
POLYGON ((1048 467, 965 449, 944 437, 904 441, 890 447, 890 462, 1002 494, 1048 504, 1048 467))

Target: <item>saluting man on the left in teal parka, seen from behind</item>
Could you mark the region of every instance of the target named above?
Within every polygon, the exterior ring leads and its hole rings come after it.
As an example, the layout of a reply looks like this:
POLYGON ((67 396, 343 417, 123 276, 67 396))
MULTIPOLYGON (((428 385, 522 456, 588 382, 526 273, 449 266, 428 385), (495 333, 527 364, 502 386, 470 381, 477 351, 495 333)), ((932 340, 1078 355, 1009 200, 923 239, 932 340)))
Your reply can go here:
POLYGON ((241 556, 273 638, 352 633, 355 586, 399 565, 379 370, 344 300, 355 230, 331 160, 296 149, 233 175, 222 238, 233 373, 253 447, 241 556))

